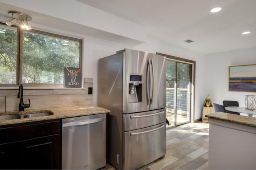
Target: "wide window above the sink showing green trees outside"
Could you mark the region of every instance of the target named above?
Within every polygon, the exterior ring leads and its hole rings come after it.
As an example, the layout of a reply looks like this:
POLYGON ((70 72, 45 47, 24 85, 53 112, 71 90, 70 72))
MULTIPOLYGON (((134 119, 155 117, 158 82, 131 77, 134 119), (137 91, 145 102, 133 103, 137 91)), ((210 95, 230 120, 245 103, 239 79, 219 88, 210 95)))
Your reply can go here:
POLYGON ((64 87, 64 67, 81 68, 81 39, 5 25, 0 29, 6 30, 0 33, 1 86, 64 87))

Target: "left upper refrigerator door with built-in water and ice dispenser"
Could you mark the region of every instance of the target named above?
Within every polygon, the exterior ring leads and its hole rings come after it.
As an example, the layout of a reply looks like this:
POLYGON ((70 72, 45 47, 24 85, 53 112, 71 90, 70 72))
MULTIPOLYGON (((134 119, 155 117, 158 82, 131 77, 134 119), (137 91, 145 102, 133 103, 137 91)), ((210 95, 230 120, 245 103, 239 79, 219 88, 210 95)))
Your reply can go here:
POLYGON ((148 111, 146 75, 150 53, 131 49, 125 49, 123 53, 123 113, 148 111), (133 80, 133 76, 140 76, 141 81, 133 80), (133 86, 133 94, 129 86, 133 86))

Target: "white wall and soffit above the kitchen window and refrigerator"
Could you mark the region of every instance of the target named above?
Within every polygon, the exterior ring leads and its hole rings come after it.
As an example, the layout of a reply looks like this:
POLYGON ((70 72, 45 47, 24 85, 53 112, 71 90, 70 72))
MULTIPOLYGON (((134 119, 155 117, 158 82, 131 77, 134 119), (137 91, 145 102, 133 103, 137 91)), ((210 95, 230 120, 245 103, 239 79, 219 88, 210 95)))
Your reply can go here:
MULTIPOLYGON (((6 8, 32 14, 33 16, 31 17, 33 20, 31 21, 31 25, 34 29, 83 39, 82 74, 83 77, 93 78, 94 105, 97 105, 98 59, 112 55, 121 49, 130 48, 150 53, 159 52, 196 61, 194 119, 201 118, 202 103, 208 93, 204 90, 204 55, 176 47, 172 44, 158 42, 155 39, 150 38, 146 34, 146 28, 137 23, 131 23, 131 21, 113 16, 112 14, 108 14, 90 6, 84 6, 87 10, 77 10, 73 7, 80 9, 79 6, 82 5, 77 1, 72 1, 74 3, 67 0, 57 1, 52 3, 53 1, 50 0, 0 0, 0 2, 3 3, 1 5, 5 5, 6 8), (49 4, 51 5, 49 6, 49 4), (71 6, 72 8, 70 8, 71 6), (102 18, 101 16, 104 17, 102 18), (90 27, 90 29, 88 29, 88 27, 90 27), (88 33, 80 28, 91 32, 88 33), (93 29, 95 30, 94 33, 92 33, 93 29), (95 33, 98 34, 96 35, 95 33), (92 37, 92 35, 96 36, 92 37), (110 35, 112 35, 112 37, 110 37, 110 35), (102 36, 102 39, 99 38, 100 36, 102 36), (122 43, 122 41, 124 43, 122 43), (132 43, 134 43, 134 45, 132 45, 132 43), (140 45, 137 45, 136 43, 140 45)), ((7 15, 8 12, 3 12, 3 10, 4 9, 2 9, 2 12, 0 13, 6 13, 7 15)))

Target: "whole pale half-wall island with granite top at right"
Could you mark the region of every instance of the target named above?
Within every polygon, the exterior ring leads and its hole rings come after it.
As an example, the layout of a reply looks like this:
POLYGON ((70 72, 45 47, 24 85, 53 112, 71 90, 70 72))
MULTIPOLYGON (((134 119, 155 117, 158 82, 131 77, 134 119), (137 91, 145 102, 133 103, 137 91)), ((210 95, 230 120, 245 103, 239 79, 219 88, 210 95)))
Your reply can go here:
POLYGON ((206 117, 208 169, 256 169, 256 118, 223 112, 206 117))

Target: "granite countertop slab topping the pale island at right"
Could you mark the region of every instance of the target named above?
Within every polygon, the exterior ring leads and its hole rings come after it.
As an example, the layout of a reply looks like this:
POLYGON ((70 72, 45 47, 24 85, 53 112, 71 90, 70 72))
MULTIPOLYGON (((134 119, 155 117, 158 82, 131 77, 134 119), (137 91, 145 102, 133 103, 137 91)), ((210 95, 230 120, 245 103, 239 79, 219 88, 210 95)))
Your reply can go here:
POLYGON ((256 117, 248 117, 224 112, 211 113, 205 116, 212 119, 256 127, 256 117))

